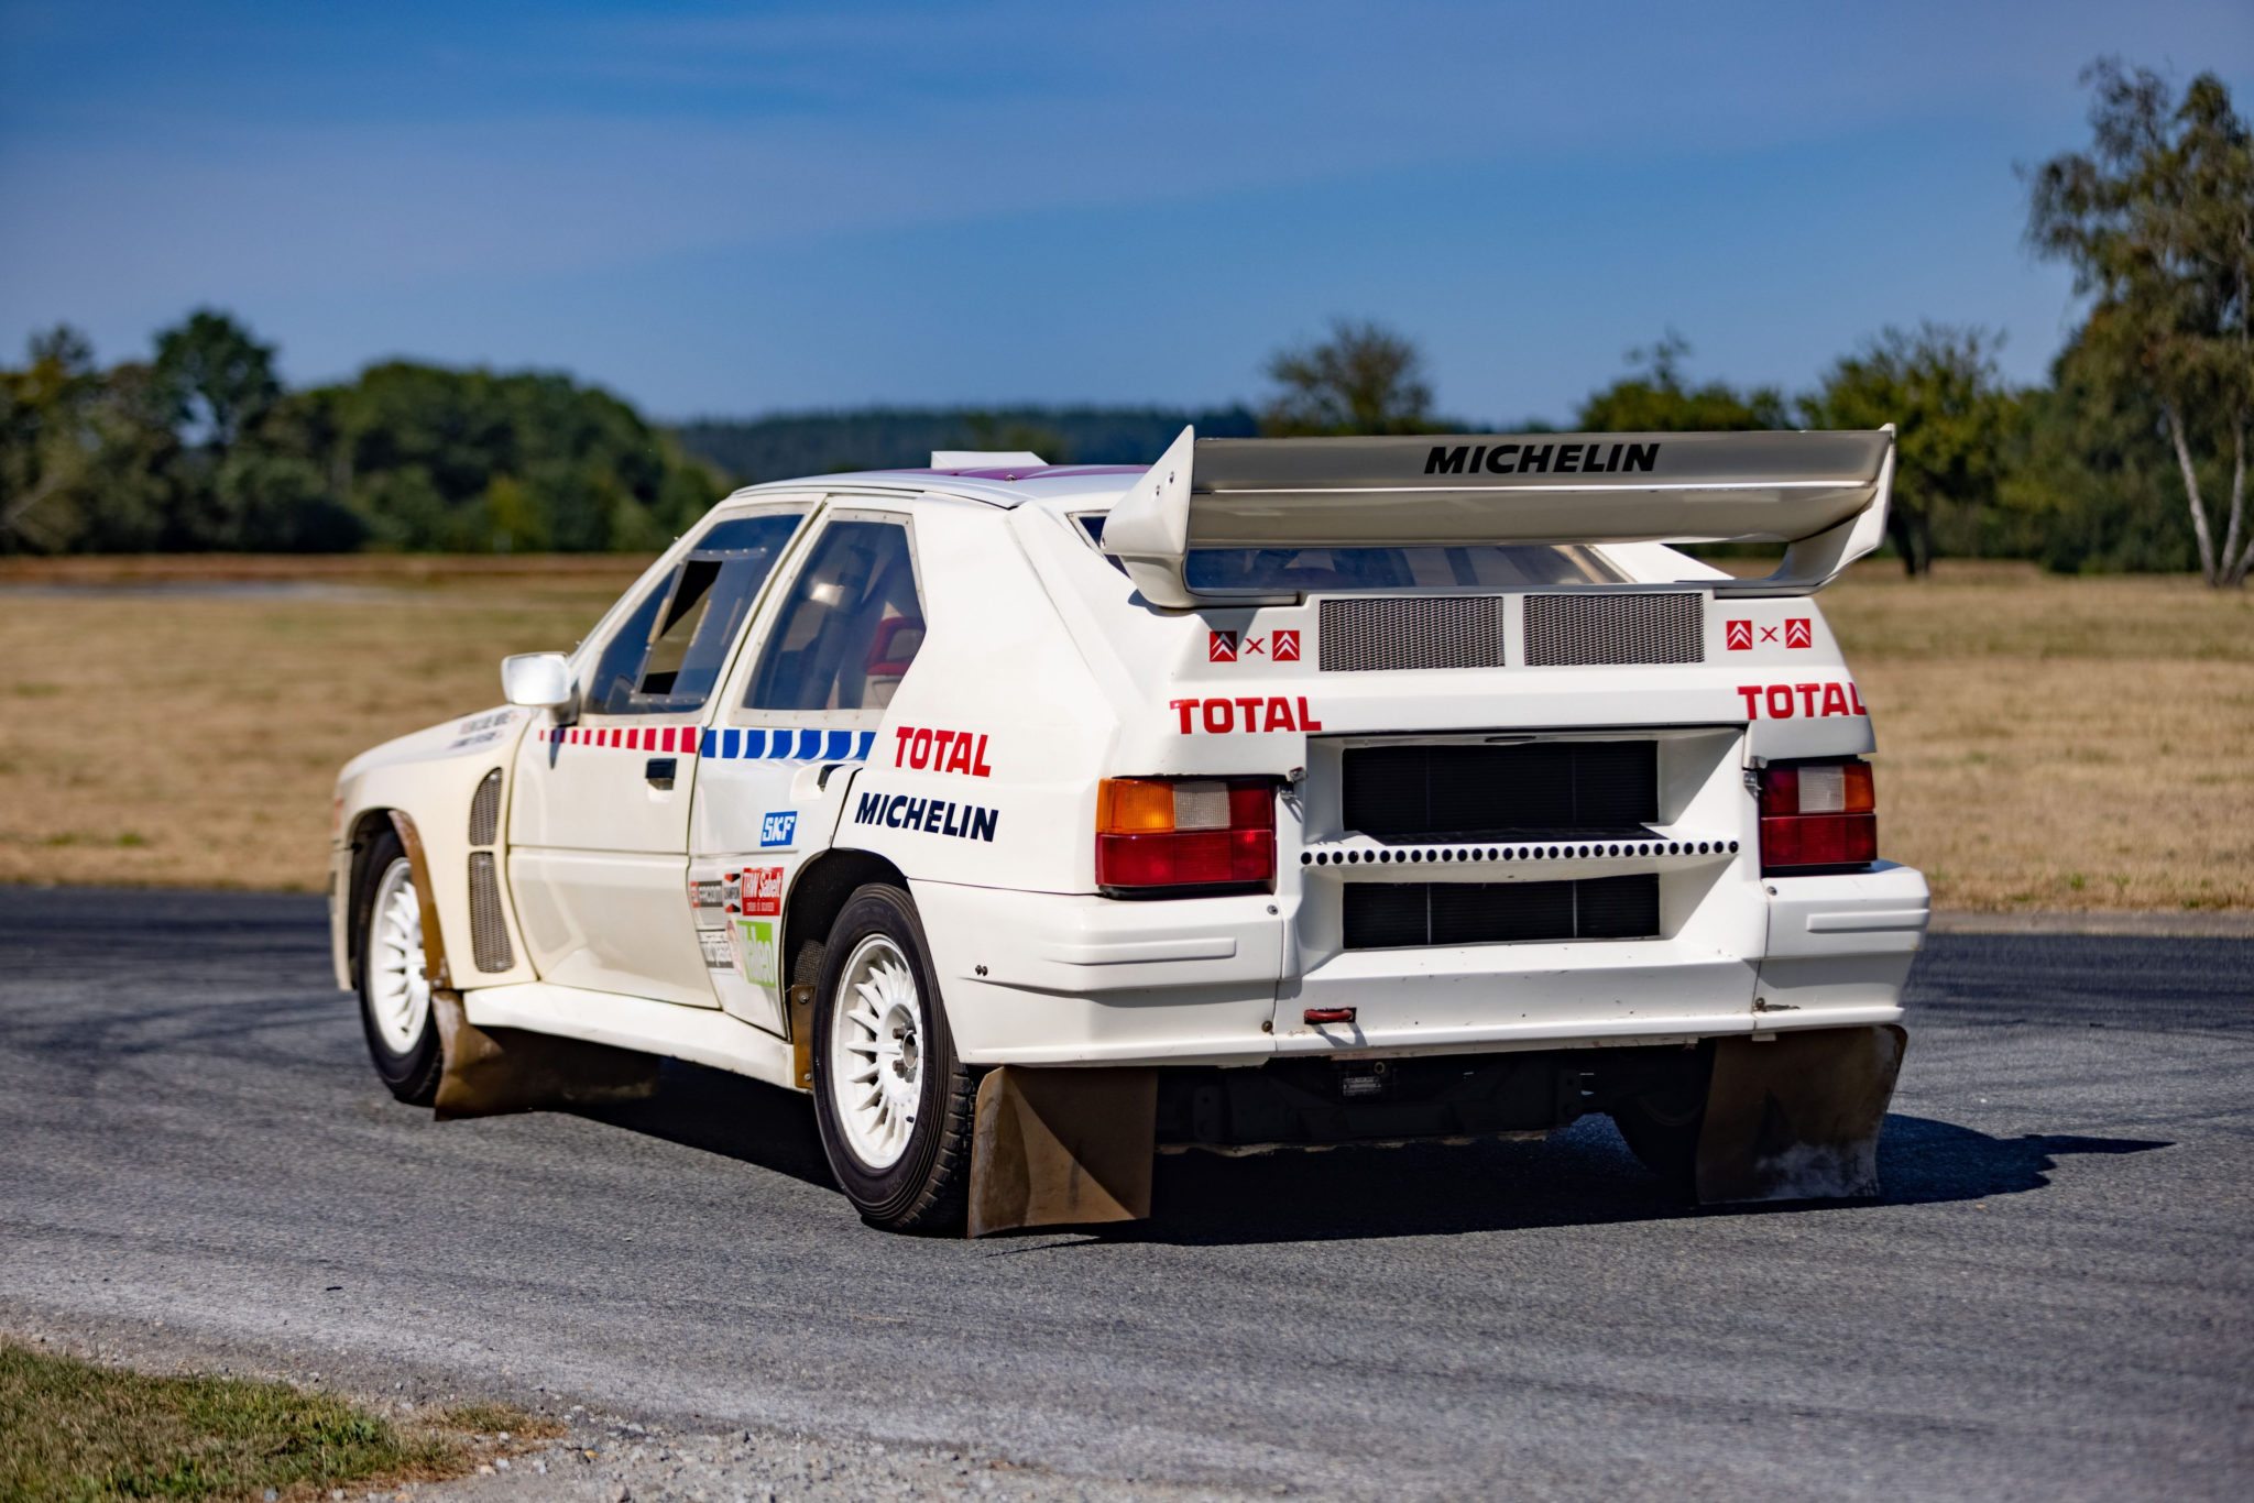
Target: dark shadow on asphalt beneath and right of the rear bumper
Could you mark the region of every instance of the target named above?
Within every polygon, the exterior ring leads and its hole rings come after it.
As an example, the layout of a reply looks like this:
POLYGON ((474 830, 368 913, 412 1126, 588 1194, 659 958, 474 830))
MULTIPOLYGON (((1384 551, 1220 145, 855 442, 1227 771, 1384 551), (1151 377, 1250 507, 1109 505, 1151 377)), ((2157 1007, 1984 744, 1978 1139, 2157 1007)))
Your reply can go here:
POLYGON ((2047 1188, 2065 1156, 2162 1147, 2171 1145, 2148 1138, 1990 1138, 1954 1122, 1889 1115, 1878 1151, 1882 1194, 1875 1199, 1690 1208, 1661 1192, 1607 1118, 1582 1118, 1546 1142, 1262 1158, 1163 1156, 1152 1219, 1095 1228, 1095 1237, 1321 1242, 1979 1201, 2047 1188))

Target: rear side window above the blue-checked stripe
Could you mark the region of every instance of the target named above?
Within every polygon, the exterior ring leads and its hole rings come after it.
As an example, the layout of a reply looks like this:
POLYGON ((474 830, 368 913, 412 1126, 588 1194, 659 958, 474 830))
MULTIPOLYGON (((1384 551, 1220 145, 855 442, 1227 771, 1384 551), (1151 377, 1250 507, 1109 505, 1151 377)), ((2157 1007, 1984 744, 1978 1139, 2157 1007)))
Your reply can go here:
POLYGON ((766 638, 748 710, 884 710, 924 644, 908 530, 836 521, 766 638))

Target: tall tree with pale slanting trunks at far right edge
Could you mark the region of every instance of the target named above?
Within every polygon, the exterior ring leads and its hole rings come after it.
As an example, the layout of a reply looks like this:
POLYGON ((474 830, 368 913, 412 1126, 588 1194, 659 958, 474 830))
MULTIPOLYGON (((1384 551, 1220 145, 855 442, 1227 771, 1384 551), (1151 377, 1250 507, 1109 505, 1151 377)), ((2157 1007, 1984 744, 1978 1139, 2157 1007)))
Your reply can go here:
POLYGON ((2157 401, 2200 572, 2213 586, 2236 586, 2254 563, 2245 530, 2254 133, 2211 72, 2182 99, 2159 74, 2119 59, 2092 63, 2083 83, 2096 95, 2092 149, 2031 174, 2029 241, 2071 264, 2076 291, 2094 300, 2080 343, 2132 372, 2157 401), (2222 451, 2229 507, 2218 550, 2202 469, 2218 469, 2222 451))

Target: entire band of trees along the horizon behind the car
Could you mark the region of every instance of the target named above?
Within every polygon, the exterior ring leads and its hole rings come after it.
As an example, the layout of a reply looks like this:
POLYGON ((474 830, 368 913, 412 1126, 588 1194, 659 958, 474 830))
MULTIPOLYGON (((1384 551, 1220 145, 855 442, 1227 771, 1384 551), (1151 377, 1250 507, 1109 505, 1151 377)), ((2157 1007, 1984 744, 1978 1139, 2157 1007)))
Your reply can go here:
MULTIPOLYGON (((1578 408, 1580 430, 1896 424, 1893 550, 2053 570, 2191 570, 2240 584, 2254 415, 2254 135, 2229 90, 2101 61, 2092 149, 2026 174, 2029 246, 2089 297, 2049 381, 2011 388, 2004 336, 1887 327, 1812 390, 1693 381, 1666 331, 1578 408)), ((284 390, 275 352, 198 311, 147 361, 97 367, 54 329, 0 370, 0 552, 649 550, 730 482, 915 466, 933 448, 1150 462, 1208 437, 1436 433, 1418 347, 1373 322, 1274 354, 1260 412, 947 408, 694 421, 665 430, 561 374, 403 361, 284 390)), ((1519 424, 1546 428, 1548 424, 1519 424)))

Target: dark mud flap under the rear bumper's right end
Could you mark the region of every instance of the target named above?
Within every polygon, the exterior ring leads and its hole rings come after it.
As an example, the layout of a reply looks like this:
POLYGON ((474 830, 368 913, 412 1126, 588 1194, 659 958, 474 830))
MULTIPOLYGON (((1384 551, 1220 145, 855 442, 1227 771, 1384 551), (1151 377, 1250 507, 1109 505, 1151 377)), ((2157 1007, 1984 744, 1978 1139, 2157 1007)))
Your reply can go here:
POLYGON ((1909 1034, 1893 1025, 1722 1039, 1697 1140, 1697 1199, 1878 1194, 1878 1129, 1909 1034))

